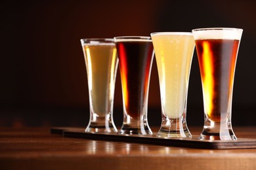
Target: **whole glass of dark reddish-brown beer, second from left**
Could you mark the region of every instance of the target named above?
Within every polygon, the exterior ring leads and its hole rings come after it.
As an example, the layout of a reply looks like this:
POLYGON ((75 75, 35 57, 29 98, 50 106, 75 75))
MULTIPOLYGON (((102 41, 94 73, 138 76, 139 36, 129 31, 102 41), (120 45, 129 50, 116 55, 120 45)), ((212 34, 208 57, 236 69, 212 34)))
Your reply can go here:
POLYGON ((154 48, 150 37, 114 37, 123 92, 121 134, 152 134, 148 126, 148 88, 154 48))

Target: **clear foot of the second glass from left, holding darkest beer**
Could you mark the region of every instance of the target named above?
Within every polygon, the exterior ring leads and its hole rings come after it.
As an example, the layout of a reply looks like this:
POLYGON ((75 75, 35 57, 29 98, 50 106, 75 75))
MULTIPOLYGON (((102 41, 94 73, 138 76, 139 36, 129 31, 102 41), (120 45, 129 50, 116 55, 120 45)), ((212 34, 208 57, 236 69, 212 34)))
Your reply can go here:
POLYGON ((150 127, 143 126, 141 127, 131 127, 129 125, 123 125, 119 134, 128 134, 128 135, 152 135, 150 127))

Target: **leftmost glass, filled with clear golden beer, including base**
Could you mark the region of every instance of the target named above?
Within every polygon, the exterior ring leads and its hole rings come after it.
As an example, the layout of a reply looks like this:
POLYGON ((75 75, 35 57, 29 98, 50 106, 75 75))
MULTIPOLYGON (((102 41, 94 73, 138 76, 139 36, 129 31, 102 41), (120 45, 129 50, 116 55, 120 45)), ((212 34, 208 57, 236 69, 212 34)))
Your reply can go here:
POLYGON ((118 58, 114 39, 81 39, 89 88, 87 132, 117 132, 113 101, 118 58))

